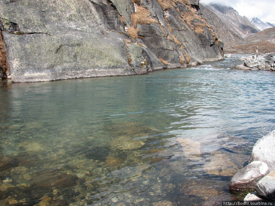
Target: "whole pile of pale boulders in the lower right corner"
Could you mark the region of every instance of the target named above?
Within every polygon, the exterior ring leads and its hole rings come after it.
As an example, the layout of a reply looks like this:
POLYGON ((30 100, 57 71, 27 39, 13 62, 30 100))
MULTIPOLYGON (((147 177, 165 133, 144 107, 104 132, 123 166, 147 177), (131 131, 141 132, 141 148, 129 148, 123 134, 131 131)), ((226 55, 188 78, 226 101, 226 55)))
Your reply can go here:
POLYGON ((231 190, 251 191, 244 200, 275 200, 275 130, 259 139, 248 165, 240 169, 230 181, 231 190))

